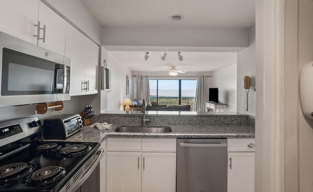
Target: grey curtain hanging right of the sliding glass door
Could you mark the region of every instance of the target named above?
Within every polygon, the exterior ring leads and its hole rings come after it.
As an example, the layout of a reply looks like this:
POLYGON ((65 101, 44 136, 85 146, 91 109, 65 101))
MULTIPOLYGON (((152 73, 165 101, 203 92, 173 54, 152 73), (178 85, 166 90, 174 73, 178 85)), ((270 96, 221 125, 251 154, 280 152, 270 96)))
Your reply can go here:
POLYGON ((204 75, 200 75, 197 81, 194 111, 206 111, 206 98, 206 79, 204 75))

